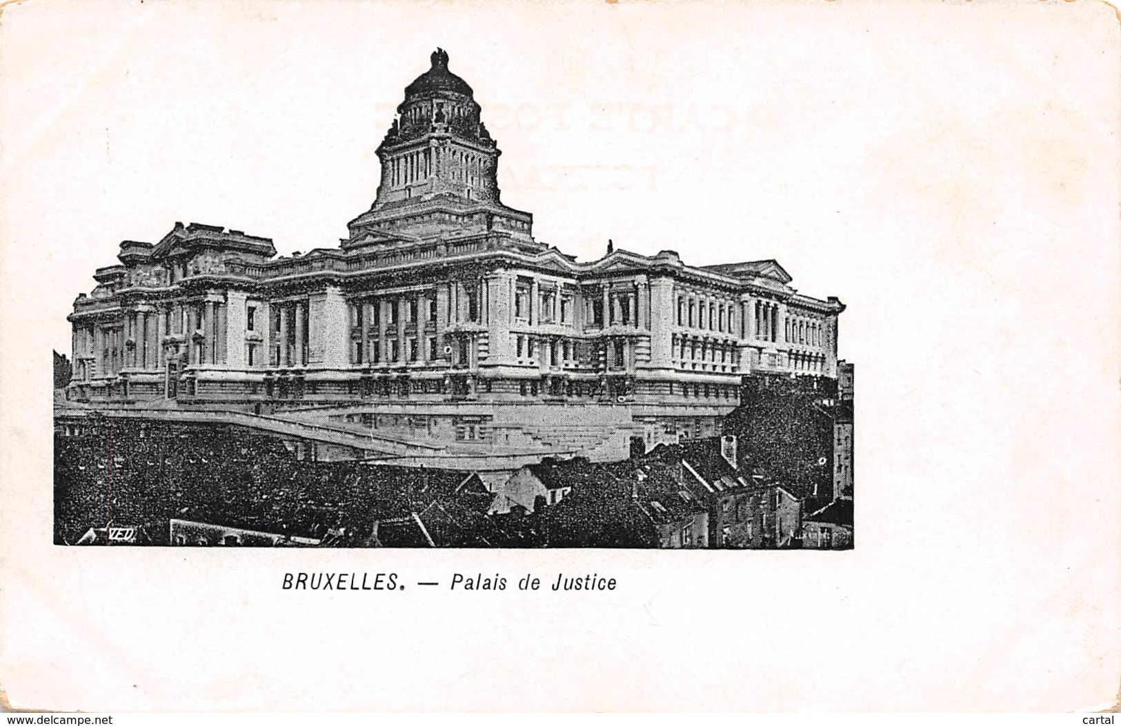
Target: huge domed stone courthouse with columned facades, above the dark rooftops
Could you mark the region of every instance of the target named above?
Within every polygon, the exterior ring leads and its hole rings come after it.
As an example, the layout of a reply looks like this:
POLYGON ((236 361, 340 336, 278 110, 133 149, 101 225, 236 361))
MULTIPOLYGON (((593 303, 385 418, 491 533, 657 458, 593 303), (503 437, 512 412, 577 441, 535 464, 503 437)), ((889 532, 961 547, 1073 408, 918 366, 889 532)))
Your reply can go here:
POLYGON ((286 419, 400 456, 611 458, 715 435, 754 371, 836 375, 844 306, 798 294, 775 260, 581 262, 535 240, 443 50, 377 152, 377 198, 337 248, 277 258, 269 239, 182 223, 121 242, 74 302, 68 399, 286 419))

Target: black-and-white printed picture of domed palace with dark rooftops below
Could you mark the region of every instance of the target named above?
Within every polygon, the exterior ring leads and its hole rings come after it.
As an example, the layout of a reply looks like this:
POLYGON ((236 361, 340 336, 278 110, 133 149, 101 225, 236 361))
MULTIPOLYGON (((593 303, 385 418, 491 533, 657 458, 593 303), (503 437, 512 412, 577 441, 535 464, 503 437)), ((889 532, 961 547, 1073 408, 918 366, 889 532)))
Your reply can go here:
POLYGON ((852 547, 841 299, 734 246, 537 240, 428 62, 336 246, 176 222, 94 271, 56 362, 55 542, 852 547))

